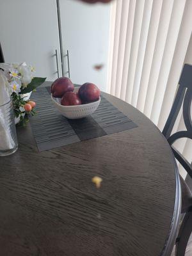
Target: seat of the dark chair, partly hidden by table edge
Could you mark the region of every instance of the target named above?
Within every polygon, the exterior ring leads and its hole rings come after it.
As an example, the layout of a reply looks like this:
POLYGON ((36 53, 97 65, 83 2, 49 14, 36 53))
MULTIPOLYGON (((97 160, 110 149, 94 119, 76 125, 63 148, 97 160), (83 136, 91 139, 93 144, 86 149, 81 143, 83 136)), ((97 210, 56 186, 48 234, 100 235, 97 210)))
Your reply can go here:
POLYGON ((180 185, 182 189, 182 205, 181 205, 181 212, 188 212, 189 209, 192 208, 192 193, 184 181, 182 177, 180 176, 180 185))

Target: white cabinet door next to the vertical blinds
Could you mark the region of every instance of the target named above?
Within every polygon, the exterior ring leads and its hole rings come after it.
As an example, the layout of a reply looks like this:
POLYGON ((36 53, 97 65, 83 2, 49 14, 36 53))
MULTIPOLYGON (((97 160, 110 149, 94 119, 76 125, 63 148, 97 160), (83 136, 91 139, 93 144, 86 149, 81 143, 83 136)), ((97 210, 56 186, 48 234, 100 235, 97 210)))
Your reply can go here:
POLYGON ((60 0, 63 51, 69 52, 73 83, 91 82, 106 90, 110 10, 110 4, 60 0), (104 67, 96 70, 98 64, 104 67))

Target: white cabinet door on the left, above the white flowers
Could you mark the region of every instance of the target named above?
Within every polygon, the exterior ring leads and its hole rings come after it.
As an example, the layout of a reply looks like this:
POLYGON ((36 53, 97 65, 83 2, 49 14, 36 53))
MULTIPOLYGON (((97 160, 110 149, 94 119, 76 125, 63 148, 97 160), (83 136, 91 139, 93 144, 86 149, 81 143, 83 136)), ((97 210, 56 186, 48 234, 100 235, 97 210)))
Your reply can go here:
POLYGON ((61 76, 56 1, 0 0, 0 42, 6 62, 26 61, 47 81, 57 78, 57 49, 61 76))

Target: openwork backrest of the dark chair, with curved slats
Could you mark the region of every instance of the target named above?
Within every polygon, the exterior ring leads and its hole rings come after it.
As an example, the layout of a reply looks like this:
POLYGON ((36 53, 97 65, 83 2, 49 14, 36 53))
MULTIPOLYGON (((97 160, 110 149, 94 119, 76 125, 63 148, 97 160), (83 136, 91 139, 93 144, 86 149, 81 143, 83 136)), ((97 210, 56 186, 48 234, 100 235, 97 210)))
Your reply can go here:
POLYGON ((192 179, 192 166, 191 164, 180 154, 180 152, 173 147, 173 143, 180 138, 190 138, 192 139, 192 121, 191 121, 191 100, 192 100, 192 66, 185 64, 182 70, 182 74, 179 79, 179 88, 173 102, 170 115, 168 120, 164 125, 163 135, 170 143, 172 147, 173 154, 175 158, 179 161, 180 164, 188 172, 189 176, 192 179), (183 118, 186 125, 186 131, 178 131, 171 135, 175 120, 179 114, 179 110, 183 102, 183 118))

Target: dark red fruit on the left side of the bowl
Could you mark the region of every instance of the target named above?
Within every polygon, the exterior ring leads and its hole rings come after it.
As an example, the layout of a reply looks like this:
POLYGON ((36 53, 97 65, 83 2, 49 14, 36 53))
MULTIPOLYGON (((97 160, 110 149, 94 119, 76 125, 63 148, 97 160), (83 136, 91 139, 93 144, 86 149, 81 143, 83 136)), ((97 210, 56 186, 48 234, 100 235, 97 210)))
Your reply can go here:
POLYGON ((73 92, 74 84, 68 77, 60 77, 51 85, 51 93, 53 97, 62 98, 66 92, 73 92))

